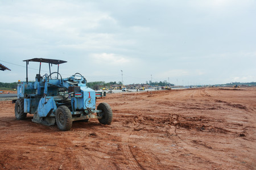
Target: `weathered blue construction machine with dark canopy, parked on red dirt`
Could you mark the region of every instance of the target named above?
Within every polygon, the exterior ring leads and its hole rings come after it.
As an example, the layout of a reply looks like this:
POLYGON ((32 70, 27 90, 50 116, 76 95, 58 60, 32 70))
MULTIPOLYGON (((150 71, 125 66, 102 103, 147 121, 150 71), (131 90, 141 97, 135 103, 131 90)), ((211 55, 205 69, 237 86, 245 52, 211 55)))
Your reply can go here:
POLYGON ((59 65, 67 61, 47 58, 24 61, 26 82, 19 82, 18 99, 13 101, 18 120, 25 119, 30 113, 34 114, 33 122, 48 126, 56 122, 60 130, 70 130, 73 121, 88 122, 89 118, 97 118, 101 124, 111 124, 113 113, 109 104, 100 103, 96 109, 96 97, 106 96, 106 92, 96 92, 86 87, 86 79, 80 73, 62 78, 59 65), (35 82, 28 82, 29 62, 40 62, 35 82), (48 63, 49 75, 40 75, 41 63, 48 63), (57 65, 57 72, 51 73, 52 65, 57 65))

